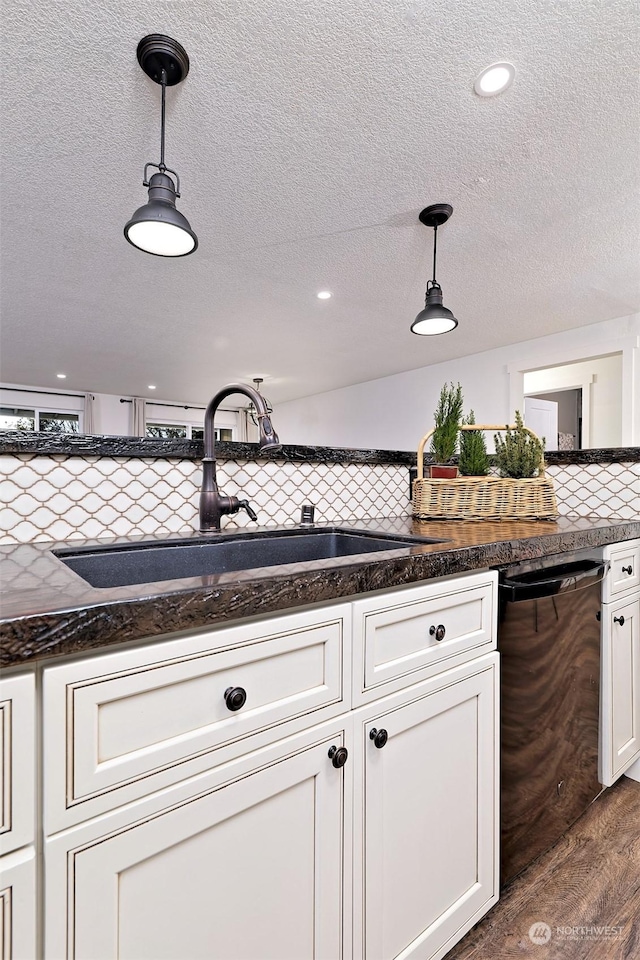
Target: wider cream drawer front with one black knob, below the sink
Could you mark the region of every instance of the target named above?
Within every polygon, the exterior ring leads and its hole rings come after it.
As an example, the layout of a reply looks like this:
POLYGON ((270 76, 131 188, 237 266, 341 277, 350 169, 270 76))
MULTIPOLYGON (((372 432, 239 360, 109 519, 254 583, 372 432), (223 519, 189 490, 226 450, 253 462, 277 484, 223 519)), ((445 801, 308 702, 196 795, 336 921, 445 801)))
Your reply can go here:
POLYGON ((249 737, 262 733, 260 746, 283 736, 287 721, 311 726, 327 707, 344 709, 345 611, 280 617, 46 670, 47 828, 60 825, 62 797, 69 809, 111 794, 98 805, 109 809, 188 776, 171 768, 192 758, 204 758, 198 772, 253 749, 249 737), (236 711, 225 701, 230 688, 246 692, 236 711))

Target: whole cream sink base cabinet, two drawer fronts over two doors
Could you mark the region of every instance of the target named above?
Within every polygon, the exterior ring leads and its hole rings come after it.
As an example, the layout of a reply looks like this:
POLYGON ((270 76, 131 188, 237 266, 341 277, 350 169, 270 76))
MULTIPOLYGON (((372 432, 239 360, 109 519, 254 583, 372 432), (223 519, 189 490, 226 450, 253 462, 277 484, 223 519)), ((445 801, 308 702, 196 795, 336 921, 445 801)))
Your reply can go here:
POLYGON ((45 668, 45 960, 444 956, 497 899, 496 585, 45 668))

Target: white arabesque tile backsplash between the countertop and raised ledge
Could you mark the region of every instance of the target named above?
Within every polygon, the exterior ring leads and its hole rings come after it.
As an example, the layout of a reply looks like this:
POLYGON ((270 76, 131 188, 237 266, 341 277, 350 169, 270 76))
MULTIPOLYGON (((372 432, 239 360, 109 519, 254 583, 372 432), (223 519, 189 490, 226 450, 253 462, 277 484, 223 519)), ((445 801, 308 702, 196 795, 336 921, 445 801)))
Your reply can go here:
MULTIPOLYGON (((0 457, 1 543, 170 534, 198 528, 199 461, 35 454, 0 457)), ((566 516, 635 520, 640 464, 549 465, 566 516)), ((411 512, 402 464, 221 460, 218 483, 249 500, 263 526, 295 523, 304 503, 324 522, 411 512)), ((245 513, 223 520, 246 526, 245 513)))

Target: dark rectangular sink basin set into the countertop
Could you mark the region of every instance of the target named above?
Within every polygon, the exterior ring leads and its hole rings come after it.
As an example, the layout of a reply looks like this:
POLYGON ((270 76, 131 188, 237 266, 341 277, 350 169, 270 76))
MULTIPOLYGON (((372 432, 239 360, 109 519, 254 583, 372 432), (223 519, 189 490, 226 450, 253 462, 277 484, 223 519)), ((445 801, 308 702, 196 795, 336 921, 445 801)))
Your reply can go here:
POLYGON ((304 531, 292 528, 261 533, 225 533, 178 541, 65 548, 53 553, 92 587, 121 587, 286 563, 353 557, 382 550, 404 549, 408 552, 412 546, 442 542, 429 537, 318 527, 304 531))

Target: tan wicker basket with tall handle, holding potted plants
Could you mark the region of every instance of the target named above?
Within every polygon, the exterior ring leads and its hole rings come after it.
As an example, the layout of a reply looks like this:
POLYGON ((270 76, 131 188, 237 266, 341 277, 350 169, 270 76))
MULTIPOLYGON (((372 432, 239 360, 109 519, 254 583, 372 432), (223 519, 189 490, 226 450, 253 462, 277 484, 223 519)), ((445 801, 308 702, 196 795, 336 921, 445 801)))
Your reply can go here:
MULTIPOLYGON (((513 426, 472 424, 461 430, 513 430, 513 426)), ((532 430, 527 433, 536 436, 532 430)), ((530 480, 503 477, 424 477, 424 448, 430 430, 418 446, 418 475, 413 484, 413 515, 420 520, 555 520, 558 506, 553 481, 545 476, 541 456, 539 476, 530 480)), ((536 438, 537 439, 537 438, 536 438)))

